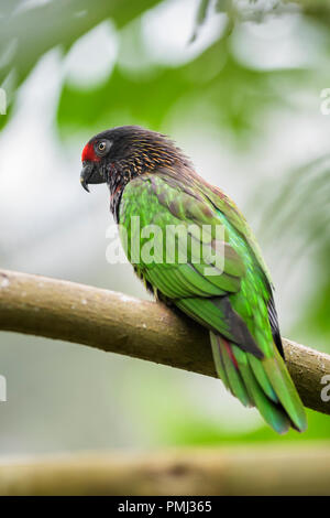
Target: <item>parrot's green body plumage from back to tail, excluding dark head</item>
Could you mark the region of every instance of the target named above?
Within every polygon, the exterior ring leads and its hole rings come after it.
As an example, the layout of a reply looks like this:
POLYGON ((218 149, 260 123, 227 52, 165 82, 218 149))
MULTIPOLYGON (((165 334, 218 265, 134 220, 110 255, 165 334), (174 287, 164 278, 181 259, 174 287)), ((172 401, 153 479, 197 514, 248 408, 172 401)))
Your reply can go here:
MULTIPOLYGON (((122 242, 132 261, 131 238, 138 230, 132 216, 140 216, 140 228, 157 225, 162 235, 155 261, 139 257, 136 273, 155 294, 169 299, 177 307, 210 331, 210 342, 219 377, 244 406, 256 406, 265 421, 279 433, 289 427, 302 431, 306 418, 301 401, 274 342, 270 323, 272 284, 260 250, 245 219, 234 204, 211 187, 188 165, 179 174, 169 168, 144 173, 123 190, 119 224, 128 239, 122 242), (166 261, 166 228, 189 228, 187 257, 179 260, 180 242, 166 261), (209 225, 209 231, 197 230, 209 225), (217 268, 216 228, 224 228, 222 270, 217 268), (196 261, 199 247, 210 256, 196 261), (213 258, 213 259, 212 259, 213 258), (205 269, 212 270, 206 276, 205 269)), ((134 236, 133 236, 134 237, 134 236)), ((138 237, 140 249, 150 237, 138 237)), ((152 251, 152 250, 150 250, 152 251)), ((182 250, 184 251, 184 250, 182 250)))

